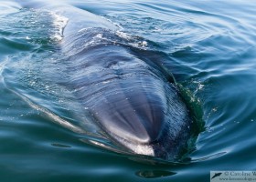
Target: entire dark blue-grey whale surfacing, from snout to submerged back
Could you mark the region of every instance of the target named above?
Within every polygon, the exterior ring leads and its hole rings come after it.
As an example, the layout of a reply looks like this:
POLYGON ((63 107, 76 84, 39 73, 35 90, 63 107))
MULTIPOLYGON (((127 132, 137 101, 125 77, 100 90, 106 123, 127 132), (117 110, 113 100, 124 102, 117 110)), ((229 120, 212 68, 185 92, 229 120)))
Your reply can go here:
POLYGON ((67 86, 113 144, 132 154, 180 155, 193 121, 154 56, 123 44, 118 27, 100 16, 71 5, 22 3, 69 19, 59 42, 71 75, 67 86))

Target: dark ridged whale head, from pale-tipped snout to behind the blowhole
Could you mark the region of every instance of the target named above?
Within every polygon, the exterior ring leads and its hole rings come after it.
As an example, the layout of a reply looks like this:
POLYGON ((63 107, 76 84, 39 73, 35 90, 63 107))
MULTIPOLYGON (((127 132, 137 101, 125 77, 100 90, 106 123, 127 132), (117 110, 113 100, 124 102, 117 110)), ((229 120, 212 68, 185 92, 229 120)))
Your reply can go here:
POLYGON ((79 66, 83 71, 76 78, 77 96, 116 146, 134 154, 175 157, 190 132, 187 106, 175 84, 157 67, 127 58, 120 48, 113 53, 114 48, 106 53, 106 48, 94 47, 93 58, 100 55, 101 61, 79 66))

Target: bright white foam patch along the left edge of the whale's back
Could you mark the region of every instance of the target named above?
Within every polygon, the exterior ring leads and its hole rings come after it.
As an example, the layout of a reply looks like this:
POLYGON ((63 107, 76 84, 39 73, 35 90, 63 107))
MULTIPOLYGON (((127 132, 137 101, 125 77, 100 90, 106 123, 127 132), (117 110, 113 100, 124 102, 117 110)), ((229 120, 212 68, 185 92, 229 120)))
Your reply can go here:
POLYGON ((63 39, 64 28, 68 24, 69 18, 63 15, 52 13, 52 12, 50 12, 50 15, 53 18, 53 25, 57 30, 56 34, 52 35, 51 38, 56 41, 61 41, 63 39))

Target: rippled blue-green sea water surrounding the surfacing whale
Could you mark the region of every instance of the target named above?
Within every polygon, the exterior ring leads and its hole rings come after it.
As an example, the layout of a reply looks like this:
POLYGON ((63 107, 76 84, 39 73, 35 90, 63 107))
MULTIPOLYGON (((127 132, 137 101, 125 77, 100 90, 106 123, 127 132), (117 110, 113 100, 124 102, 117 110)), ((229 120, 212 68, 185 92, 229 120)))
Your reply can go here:
POLYGON ((1 1, 1 181, 196 182, 211 170, 256 169, 255 1, 66 2, 111 21, 142 54, 157 53, 200 122, 195 147, 186 162, 144 164, 89 144, 95 136, 81 128, 97 128, 59 81, 68 19, 1 1))

